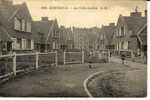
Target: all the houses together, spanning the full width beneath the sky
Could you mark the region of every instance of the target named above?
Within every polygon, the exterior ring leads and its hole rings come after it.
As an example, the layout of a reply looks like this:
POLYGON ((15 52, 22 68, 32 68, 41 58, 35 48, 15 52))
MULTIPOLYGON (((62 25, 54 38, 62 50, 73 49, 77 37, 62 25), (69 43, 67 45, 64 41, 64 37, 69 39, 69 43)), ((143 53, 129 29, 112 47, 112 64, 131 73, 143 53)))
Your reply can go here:
POLYGON ((11 0, 0 0, 0 54, 66 49, 110 49, 145 55, 147 11, 144 16, 137 9, 130 16, 120 15, 116 25, 66 28, 48 17, 33 21, 26 3, 14 5, 11 0))

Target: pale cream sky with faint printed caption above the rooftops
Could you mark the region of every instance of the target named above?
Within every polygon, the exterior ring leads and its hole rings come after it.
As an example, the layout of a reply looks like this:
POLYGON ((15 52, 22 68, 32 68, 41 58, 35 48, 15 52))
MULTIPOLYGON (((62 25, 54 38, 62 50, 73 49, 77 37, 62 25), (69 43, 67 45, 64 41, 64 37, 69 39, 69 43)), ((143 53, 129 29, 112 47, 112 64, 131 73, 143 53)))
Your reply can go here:
POLYGON ((47 16, 57 19, 65 27, 101 27, 117 23, 119 15, 129 16, 130 12, 143 12, 145 0, 13 0, 14 4, 26 2, 33 20, 47 16), (61 8, 61 9, 60 9, 61 8))

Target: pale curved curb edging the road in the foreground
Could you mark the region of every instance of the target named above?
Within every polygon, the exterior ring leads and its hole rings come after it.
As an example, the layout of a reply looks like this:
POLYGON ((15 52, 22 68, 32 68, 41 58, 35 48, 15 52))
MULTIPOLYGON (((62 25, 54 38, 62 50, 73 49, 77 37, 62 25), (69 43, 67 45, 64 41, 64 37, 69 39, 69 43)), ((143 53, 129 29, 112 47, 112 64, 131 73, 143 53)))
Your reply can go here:
POLYGON ((101 73, 104 73, 104 71, 96 72, 96 73, 90 75, 87 79, 84 80, 84 82, 83 82, 84 91, 86 92, 86 94, 87 94, 89 97, 94 97, 94 96, 90 93, 90 91, 89 91, 87 85, 88 85, 88 83, 89 83, 93 78, 95 78, 96 76, 98 76, 98 75, 101 74, 101 73))

